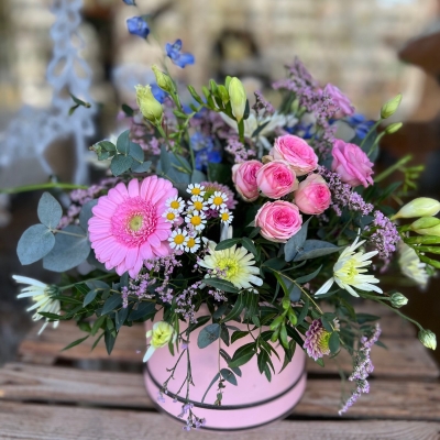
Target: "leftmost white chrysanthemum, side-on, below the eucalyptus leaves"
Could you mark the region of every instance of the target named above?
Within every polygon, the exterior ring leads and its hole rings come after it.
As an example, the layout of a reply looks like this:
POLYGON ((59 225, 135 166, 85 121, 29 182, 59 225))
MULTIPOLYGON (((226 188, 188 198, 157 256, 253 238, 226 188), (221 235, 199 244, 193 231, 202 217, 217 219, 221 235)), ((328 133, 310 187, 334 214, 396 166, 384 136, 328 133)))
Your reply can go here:
MULTIPOLYGON (((32 316, 32 319, 34 321, 38 321, 40 319, 44 318, 42 315, 40 315, 41 311, 46 314, 59 315, 61 304, 58 299, 52 299, 51 294, 53 293, 53 288, 51 286, 42 282, 38 282, 37 279, 29 278, 26 276, 12 275, 12 278, 14 278, 18 283, 29 284, 29 286, 24 287, 21 290, 21 294, 18 295, 16 297, 18 298, 31 297, 32 300, 35 302, 28 309, 28 311, 36 309, 35 314, 32 316)), ((53 326, 54 329, 58 327, 58 323, 59 321, 54 321, 53 326)), ((47 324, 48 324, 48 319, 46 319, 46 322, 40 329, 38 334, 43 332, 43 330, 47 327, 47 324)))

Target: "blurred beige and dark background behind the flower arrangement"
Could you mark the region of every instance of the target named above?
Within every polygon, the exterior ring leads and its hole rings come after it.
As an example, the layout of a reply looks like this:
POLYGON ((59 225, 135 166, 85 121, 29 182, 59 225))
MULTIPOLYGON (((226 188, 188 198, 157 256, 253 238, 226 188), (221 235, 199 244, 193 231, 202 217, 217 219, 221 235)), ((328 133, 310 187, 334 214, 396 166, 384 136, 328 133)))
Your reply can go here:
MULTIPOLYGON (((240 76, 276 105, 268 87, 298 56, 319 82, 338 86, 370 119, 402 92, 393 122, 405 125, 383 138, 381 162, 389 165, 411 153, 414 164, 426 165, 419 194, 440 198, 440 0, 136 4, 0 1, 0 188, 47 182, 50 175, 87 183, 89 169, 77 158, 119 130, 118 105, 133 102, 134 85, 154 79, 150 67, 163 58, 164 44, 182 38, 196 64, 169 68, 196 88, 209 78, 240 76), (153 19, 147 43, 127 31, 127 19, 141 14, 153 19), (98 106, 66 119, 73 105, 67 90, 98 106)), ((11 274, 56 280, 38 263, 21 267, 15 253, 21 233, 37 222, 40 195, 0 195, 0 364, 13 359, 31 327, 11 274)), ((431 279, 427 292, 394 287, 410 297, 411 317, 440 337, 439 280, 431 279)))

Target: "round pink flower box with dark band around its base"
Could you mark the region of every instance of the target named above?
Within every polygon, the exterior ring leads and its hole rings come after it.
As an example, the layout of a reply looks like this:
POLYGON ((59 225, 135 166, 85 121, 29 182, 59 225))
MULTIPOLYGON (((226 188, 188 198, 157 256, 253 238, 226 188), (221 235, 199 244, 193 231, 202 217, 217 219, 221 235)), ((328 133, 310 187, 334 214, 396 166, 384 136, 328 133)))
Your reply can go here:
MULTIPOLYGON (((233 324, 240 327, 235 322, 233 324)), ((146 322, 146 327, 147 329, 151 328, 152 322, 146 322)), ((274 374, 272 382, 268 382, 264 374, 260 374, 256 356, 252 358, 251 361, 240 367, 242 376, 237 376, 237 386, 224 382, 227 387, 223 389, 221 406, 212 405, 217 398, 217 383, 212 385, 204 404, 201 404, 206 389, 218 373, 219 341, 205 349, 199 349, 197 346, 197 337, 200 330, 201 328, 191 333, 191 342, 189 344, 195 384, 195 386, 190 386, 189 399, 194 404, 194 414, 199 418, 206 419, 206 425, 201 429, 239 431, 261 427, 288 416, 306 388, 306 354, 301 349, 297 348, 293 361, 280 374, 274 374)), ((251 337, 242 338, 230 346, 221 342, 221 348, 232 356, 238 348, 251 341, 251 337)), ((272 362, 278 373, 283 365, 284 351, 279 345, 275 346, 275 350, 280 361, 273 355, 272 362)), ((176 395, 176 393, 186 377, 186 354, 184 354, 176 369, 175 378, 168 383, 168 395, 164 395, 165 403, 157 402, 161 386, 169 376, 166 369, 174 366, 176 361, 177 356, 173 356, 167 346, 157 349, 145 364, 145 387, 160 409, 185 425, 185 419, 180 419, 177 416, 182 413, 182 406, 185 402, 186 385, 179 395, 176 395)), ((220 367, 228 367, 223 359, 220 360, 220 367)))

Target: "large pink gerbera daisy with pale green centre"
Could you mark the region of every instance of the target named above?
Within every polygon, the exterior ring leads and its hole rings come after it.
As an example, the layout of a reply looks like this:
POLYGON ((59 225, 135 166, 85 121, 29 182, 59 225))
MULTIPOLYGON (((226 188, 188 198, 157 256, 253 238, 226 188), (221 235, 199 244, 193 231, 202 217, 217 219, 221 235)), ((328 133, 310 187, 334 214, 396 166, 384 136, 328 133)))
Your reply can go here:
POLYGON ((144 260, 170 254, 168 238, 172 223, 163 213, 166 200, 177 196, 170 182, 157 176, 128 187, 118 184, 98 199, 89 220, 89 239, 98 261, 107 270, 116 267, 119 275, 129 272, 135 278, 144 260))

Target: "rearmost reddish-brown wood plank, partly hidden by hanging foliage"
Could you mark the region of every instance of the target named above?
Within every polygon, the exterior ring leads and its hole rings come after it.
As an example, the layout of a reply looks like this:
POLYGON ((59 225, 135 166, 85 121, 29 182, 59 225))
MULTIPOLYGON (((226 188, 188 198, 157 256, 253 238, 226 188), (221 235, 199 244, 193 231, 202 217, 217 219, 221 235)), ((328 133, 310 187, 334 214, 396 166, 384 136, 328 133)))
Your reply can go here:
MULTIPOLYGON (((91 338, 70 350, 61 352, 69 342, 84 334, 73 322, 62 322, 56 330, 46 329, 41 337, 30 333, 20 345, 20 359, 23 362, 32 363, 40 363, 43 359, 45 364, 54 363, 57 359, 101 360, 138 364, 142 362, 145 351, 145 336, 142 326, 122 328, 110 358, 102 341, 94 351, 90 351, 94 343, 91 338)), ((416 338, 383 338, 382 341, 388 346, 388 350, 375 346, 372 352, 376 377, 433 380, 439 376, 436 362, 416 338)), ((344 371, 351 372, 352 361, 346 353, 338 356, 338 362, 344 371)), ((326 360, 326 369, 322 369, 309 359, 307 371, 314 374, 338 373, 338 366, 333 361, 326 360)))

